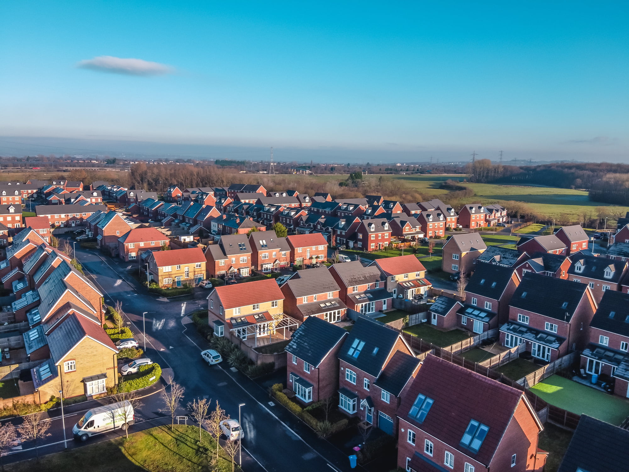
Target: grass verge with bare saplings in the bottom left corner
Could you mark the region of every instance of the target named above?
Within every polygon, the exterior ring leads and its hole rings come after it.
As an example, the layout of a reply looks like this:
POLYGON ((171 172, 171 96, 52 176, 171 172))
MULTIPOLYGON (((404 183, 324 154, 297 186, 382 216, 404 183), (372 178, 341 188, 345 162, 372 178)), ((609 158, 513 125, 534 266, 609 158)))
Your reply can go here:
MULTIPOLYGON (((195 426, 157 426, 129 435, 129 439, 116 437, 89 446, 56 452, 40 458, 4 466, 8 472, 58 472, 60 470, 89 469, 91 472, 206 472, 214 445, 208 432, 203 431, 203 444, 199 447, 199 429, 195 426), (208 453, 210 456, 208 456, 208 453)), ((221 472, 231 472, 231 459, 220 458, 221 472)), ((239 471, 238 465, 235 470, 239 471)))

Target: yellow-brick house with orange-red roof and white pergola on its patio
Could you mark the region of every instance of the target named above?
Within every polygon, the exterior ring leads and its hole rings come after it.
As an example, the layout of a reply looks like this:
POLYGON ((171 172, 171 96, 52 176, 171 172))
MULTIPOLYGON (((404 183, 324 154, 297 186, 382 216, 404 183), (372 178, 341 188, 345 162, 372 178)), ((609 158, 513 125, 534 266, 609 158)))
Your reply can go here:
POLYGON ((208 295, 208 323, 214 336, 249 347, 290 339, 299 325, 284 314, 275 279, 215 287, 208 295))

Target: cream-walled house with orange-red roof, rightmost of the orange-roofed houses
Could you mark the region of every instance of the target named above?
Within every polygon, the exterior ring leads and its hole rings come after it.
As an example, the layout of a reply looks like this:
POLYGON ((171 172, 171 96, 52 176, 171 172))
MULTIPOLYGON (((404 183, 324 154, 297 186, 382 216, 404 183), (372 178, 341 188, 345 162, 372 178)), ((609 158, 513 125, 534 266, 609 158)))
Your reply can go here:
POLYGON ((423 297, 432 286, 426 279, 426 267, 413 254, 384 257, 369 265, 377 267, 386 277, 385 287, 393 296, 402 295, 405 300, 412 300, 416 295, 423 297))

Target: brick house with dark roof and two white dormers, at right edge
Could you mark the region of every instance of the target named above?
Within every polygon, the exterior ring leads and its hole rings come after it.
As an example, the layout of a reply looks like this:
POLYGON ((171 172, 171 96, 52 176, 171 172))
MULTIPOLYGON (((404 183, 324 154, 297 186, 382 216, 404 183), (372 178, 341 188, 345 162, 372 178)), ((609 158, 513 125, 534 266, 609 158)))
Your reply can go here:
POLYGON ((568 269, 568 279, 588 284, 596 303, 601 301, 605 291, 621 290, 621 282, 627 273, 626 261, 613 261, 603 257, 587 256, 580 253, 571 256, 572 265, 568 269))

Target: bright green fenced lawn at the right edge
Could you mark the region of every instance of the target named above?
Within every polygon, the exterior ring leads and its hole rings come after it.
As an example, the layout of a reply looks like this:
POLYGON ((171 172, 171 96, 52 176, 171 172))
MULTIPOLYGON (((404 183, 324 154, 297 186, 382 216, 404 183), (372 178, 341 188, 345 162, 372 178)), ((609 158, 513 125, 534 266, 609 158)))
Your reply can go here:
POLYGON ((589 415, 613 425, 629 416, 629 400, 610 395, 570 379, 552 375, 530 388, 546 402, 577 415, 589 415))

